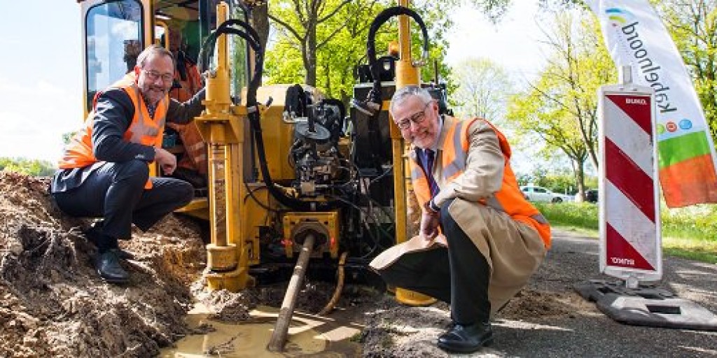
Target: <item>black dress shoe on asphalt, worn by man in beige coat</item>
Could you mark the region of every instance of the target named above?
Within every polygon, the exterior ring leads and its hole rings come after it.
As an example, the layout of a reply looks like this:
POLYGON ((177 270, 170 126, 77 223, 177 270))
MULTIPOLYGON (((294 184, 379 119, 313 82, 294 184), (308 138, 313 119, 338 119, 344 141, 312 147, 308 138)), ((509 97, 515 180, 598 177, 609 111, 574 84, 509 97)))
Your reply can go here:
POLYGON ((456 353, 473 353, 491 343, 493 343, 493 329, 490 329, 490 323, 467 326, 454 324, 448 332, 438 337, 438 347, 456 353))

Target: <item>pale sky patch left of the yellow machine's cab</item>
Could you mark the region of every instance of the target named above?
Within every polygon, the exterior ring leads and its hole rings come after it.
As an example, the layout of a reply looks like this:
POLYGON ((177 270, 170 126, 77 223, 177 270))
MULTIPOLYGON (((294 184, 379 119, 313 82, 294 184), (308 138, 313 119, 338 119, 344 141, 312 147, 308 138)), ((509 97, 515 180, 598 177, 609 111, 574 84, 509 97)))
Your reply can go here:
POLYGON ((0 157, 60 157, 62 133, 82 123, 80 6, 9 4, 0 21, 0 157))

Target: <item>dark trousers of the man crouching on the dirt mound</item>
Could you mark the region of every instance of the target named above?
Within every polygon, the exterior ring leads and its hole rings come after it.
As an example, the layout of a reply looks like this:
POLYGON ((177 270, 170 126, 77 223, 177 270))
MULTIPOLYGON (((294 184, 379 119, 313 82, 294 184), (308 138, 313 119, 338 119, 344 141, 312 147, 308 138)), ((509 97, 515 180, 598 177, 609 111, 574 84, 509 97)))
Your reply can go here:
POLYGON ((141 160, 106 163, 93 170, 79 187, 52 195, 68 215, 104 218, 103 234, 129 239, 132 223, 147 231, 194 196, 189 183, 174 178, 151 178, 153 187, 145 190, 148 178, 149 168, 141 160))

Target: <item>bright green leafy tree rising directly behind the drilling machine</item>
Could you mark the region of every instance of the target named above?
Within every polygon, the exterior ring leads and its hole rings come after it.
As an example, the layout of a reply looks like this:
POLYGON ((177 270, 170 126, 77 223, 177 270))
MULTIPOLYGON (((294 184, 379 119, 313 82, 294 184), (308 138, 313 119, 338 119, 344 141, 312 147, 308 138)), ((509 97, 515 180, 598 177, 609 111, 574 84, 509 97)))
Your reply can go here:
MULTIPOLYGON (((429 26, 430 57, 445 57, 445 33, 450 28, 448 9, 461 1, 450 0, 441 8, 435 1, 412 1, 429 26)), ((270 82, 303 82, 323 89, 330 97, 341 97, 348 102, 355 82, 354 67, 365 61, 366 36, 369 25, 379 11, 397 5, 389 0, 272 0, 269 18, 278 31, 274 51, 267 54, 267 77, 270 82), (297 67, 300 64, 301 67, 297 67), (297 71, 300 69, 300 71, 297 71), (300 78, 303 76, 303 79, 300 78)), ((485 11, 489 19, 499 19, 511 4, 510 0, 472 0, 470 4, 485 11)), ((376 39, 376 50, 381 52, 396 35, 395 21, 383 26, 376 39), (384 47, 381 47, 384 46, 384 47)), ((422 41, 418 32, 412 33, 415 49, 422 41)), ((418 54, 416 51, 414 54, 418 54)), ((429 64, 430 66, 430 64, 429 64)), ((439 77, 447 79, 450 68, 439 64, 439 77)), ((435 77, 430 67, 422 71, 422 79, 435 77)), ((449 85, 450 89, 452 86, 449 85)))

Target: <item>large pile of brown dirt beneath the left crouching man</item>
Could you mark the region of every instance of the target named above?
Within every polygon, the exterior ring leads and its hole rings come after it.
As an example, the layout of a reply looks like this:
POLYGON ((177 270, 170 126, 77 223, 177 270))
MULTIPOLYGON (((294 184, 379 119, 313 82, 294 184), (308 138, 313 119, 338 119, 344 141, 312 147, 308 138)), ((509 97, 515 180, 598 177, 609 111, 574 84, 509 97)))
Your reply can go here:
POLYGON ((148 357, 186 334, 189 283, 205 262, 196 224, 168 216, 120 243, 125 285, 95 272, 82 236, 92 221, 63 215, 49 180, 0 173, 0 357, 148 357))

